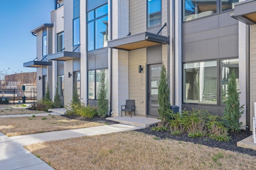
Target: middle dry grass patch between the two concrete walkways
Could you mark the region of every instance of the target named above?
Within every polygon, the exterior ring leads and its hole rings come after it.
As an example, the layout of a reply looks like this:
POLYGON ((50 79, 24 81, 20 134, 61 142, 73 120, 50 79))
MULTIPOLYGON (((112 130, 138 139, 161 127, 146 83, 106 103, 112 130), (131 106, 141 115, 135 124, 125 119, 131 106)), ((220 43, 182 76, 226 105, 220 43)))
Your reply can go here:
POLYGON ((101 125, 104 124, 68 119, 60 115, 0 118, 0 132, 8 137, 101 125))

